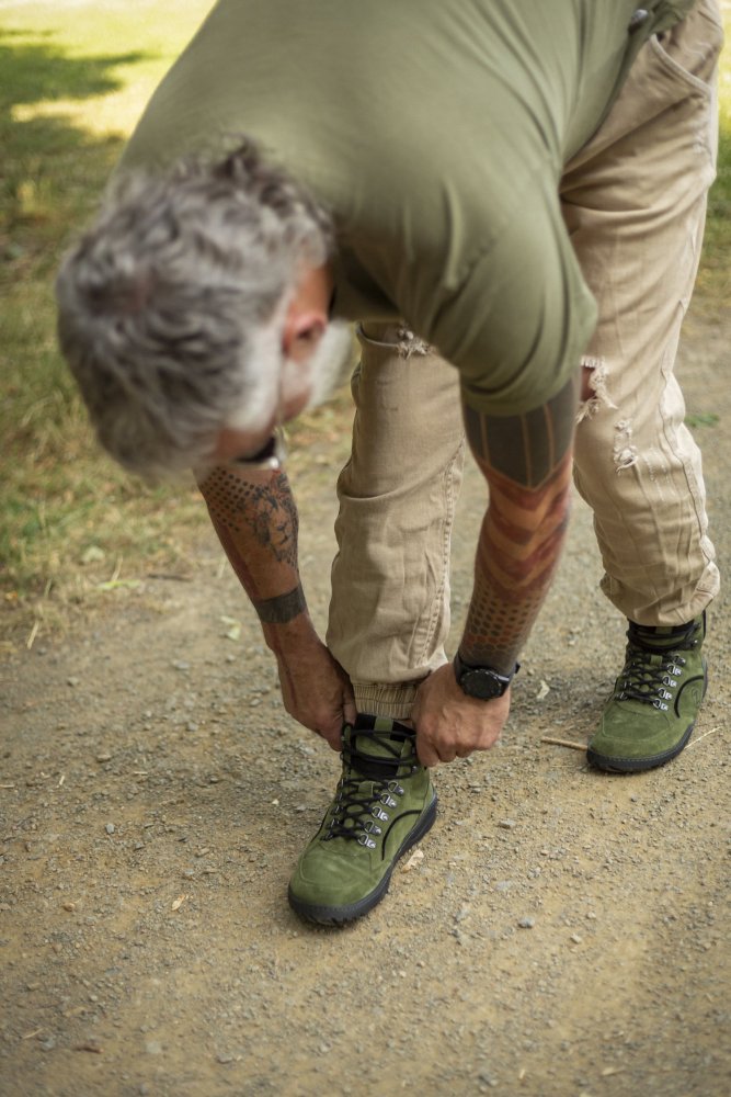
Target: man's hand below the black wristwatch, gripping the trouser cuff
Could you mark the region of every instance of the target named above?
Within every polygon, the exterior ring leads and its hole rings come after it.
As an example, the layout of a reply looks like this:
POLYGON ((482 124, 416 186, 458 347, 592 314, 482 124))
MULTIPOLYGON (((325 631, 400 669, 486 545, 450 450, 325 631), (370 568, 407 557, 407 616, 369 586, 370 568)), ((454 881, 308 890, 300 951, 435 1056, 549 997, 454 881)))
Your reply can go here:
POLYGON ((416 753, 424 766, 467 758, 489 750, 500 738, 510 711, 510 689, 494 701, 466 697, 450 663, 425 678, 416 692, 411 719, 416 753))

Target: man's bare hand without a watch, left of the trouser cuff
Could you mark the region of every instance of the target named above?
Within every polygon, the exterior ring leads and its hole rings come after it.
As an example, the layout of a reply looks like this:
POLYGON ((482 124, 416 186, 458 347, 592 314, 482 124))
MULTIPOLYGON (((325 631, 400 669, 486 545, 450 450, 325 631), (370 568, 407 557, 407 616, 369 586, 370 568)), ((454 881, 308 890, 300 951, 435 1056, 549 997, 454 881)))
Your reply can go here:
POLYGON ((292 647, 277 645, 275 654, 289 715, 340 750, 343 724, 355 720, 353 688, 343 668, 315 633, 292 647))

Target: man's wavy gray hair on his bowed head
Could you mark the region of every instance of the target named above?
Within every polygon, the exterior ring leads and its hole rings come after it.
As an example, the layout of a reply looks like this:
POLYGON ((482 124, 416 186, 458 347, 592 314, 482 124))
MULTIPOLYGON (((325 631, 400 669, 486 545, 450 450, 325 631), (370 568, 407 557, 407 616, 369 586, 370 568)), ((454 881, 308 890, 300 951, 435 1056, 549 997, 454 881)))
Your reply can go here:
POLYGON ((289 294, 332 240, 250 144, 115 183, 56 281, 61 351, 112 456, 160 475, 209 461, 222 427, 261 426, 289 294))

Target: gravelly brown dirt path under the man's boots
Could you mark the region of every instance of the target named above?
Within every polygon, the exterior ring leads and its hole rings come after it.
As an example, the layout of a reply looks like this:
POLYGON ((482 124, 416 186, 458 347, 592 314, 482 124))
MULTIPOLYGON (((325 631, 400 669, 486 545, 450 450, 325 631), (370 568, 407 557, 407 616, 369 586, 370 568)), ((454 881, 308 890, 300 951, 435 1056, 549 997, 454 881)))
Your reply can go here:
MULTIPOLYGON (((712 533, 731 552, 728 332, 690 321, 712 533)), ((332 450, 332 452, 331 452, 332 450)), ((334 464, 295 457, 305 583, 324 620, 334 464), (309 461, 309 463, 308 463, 309 461)), ((467 477, 459 623, 483 499, 467 477)), ((437 823, 366 918, 286 903, 338 757, 285 714, 213 535, 187 577, 0 666, 0 1093, 308 1095, 731 1092, 731 617, 689 747, 647 774, 585 743, 624 623, 576 501, 502 744, 437 772, 437 823)))

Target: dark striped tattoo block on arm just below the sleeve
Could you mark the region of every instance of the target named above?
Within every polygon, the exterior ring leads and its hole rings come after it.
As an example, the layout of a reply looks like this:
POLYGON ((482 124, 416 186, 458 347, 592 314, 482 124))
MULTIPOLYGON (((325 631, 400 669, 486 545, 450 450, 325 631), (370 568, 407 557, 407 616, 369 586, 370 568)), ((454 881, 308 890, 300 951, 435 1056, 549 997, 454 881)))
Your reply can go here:
POLYGON ((521 415, 490 415, 462 403, 467 439, 486 475, 541 487, 571 449, 578 398, 579 374, 546 404, 521 415))

